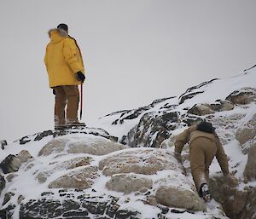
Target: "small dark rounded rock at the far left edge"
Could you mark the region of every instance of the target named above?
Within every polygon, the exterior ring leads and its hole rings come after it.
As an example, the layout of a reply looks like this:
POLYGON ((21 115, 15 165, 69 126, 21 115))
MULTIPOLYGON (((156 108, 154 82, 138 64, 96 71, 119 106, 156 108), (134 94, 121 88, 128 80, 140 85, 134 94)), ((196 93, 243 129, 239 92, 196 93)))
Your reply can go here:
POLYGON ((20 159, 13 154, 9 154, 9 156, 3 159, 0 164, 0 167, 3 170, 4 174, 18 171, 20 169, 20 166, 20 159))

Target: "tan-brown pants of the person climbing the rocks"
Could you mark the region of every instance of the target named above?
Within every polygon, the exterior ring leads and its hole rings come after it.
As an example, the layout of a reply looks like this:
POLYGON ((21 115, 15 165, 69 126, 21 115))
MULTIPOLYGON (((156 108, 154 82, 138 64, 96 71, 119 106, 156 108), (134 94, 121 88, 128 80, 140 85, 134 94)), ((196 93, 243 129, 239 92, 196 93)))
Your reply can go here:
POLYGON ((199 137, 190 144, 191 173, 198 191, 202 183, 209 183, 209 166, 216 152, 216 143, 204 137, 199 137))

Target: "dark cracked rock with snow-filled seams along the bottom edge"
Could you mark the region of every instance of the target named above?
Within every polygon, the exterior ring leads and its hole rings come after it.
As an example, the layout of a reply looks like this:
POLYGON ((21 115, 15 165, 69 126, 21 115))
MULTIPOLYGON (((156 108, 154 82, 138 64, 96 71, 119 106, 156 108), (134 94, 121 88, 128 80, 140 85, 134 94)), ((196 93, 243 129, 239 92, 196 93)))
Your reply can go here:
POLYGON ((79 196, 77 201, 40 199, 30 200, 20 205, 20 219, 43 218, 120 218, 139 219, 140 214, 132 210, 119 210, 118 199, 109 197, 108 201, 102 197, 79 196), (95 199, 95 200, 92 200, 95 199), (39 216, 39 217, 38 217, 39 216))

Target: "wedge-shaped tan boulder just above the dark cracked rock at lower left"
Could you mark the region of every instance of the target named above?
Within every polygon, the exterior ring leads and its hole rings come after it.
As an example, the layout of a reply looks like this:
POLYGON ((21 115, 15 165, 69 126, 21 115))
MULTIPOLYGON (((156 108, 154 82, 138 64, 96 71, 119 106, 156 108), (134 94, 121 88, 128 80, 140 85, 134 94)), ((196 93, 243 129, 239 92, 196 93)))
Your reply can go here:
POLYGON ((49 188, 77 188, 85 189, 91 187, 93 180, 98 175, 96 166, 85 167, 80 170, 74 170, 67 175, 61 176, 54 182, 49 183, 49 188))

